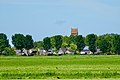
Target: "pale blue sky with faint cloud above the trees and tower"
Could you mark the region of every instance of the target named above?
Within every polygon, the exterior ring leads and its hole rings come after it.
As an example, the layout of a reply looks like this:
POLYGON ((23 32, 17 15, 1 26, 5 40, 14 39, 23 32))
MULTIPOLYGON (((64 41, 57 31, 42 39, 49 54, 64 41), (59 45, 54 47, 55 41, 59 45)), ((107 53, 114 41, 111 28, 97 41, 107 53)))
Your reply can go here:
POLYGON ((67 35, 120 33, 120 0, 0 0, 0 33, 10 42, 16 33, 34 41, 67 35))

